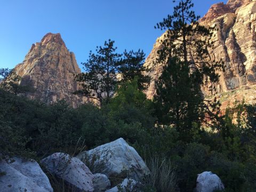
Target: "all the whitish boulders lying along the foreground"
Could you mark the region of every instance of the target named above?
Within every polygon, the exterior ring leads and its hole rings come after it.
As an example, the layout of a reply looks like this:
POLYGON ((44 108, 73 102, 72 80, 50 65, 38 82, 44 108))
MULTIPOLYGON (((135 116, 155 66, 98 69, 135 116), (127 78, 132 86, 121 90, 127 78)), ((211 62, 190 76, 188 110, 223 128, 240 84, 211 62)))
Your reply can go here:
MULTIPOLYGON (((53 191, 49 178, 36 161, 17 157, 13 160, 0 162, 0 191, 53 191)), ((72 186, 72 191, 139 191, 135 188, 141 185, 143 176, 150 174, 137 151, 122 138, 76 157, 55 153, 42 159, 41 165, 47 175, 72 186)), ((198 174, 196 192, 215 189, 224 189, 216 174, 198 174)))

